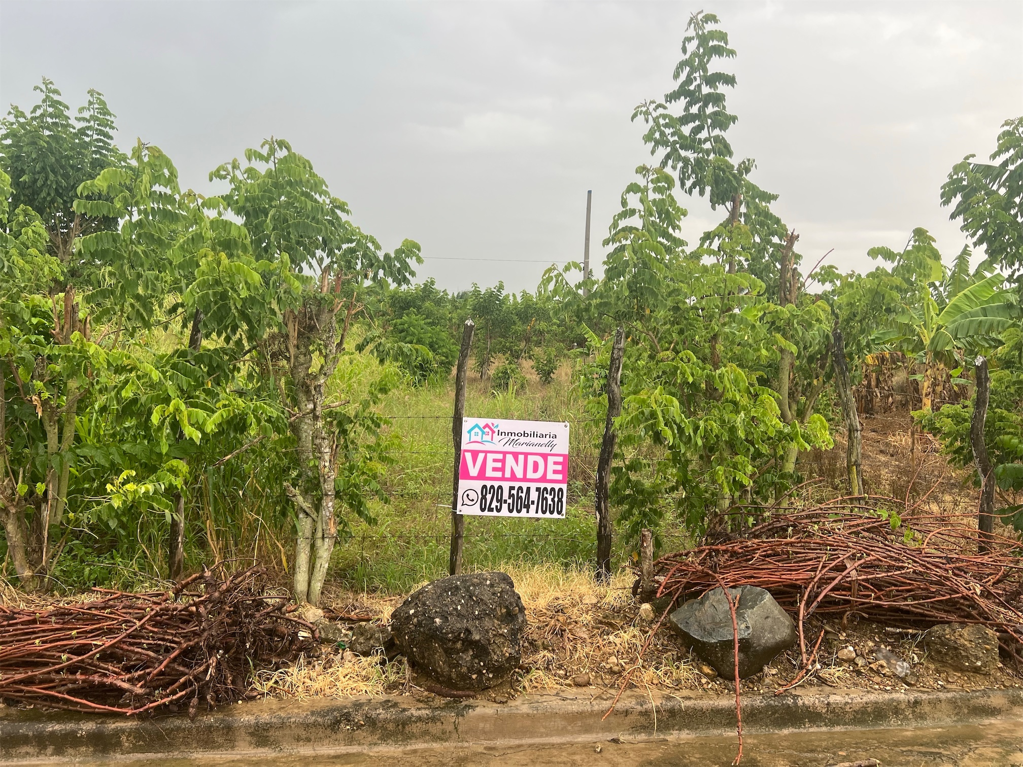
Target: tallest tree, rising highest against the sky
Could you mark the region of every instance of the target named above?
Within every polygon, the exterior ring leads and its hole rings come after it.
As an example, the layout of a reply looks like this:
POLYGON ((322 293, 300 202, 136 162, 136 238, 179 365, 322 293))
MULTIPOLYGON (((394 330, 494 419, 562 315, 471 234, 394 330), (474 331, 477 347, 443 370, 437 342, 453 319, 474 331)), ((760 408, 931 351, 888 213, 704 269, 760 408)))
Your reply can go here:
MULTIPOLYGON (((775 308, 766 310, 776 342, 774 375, 784 421, 805 426, 824 389, 828 367, 830 315, 826 304, 806 300, 800 290, 800 255, 794 250, 799 235, 789 231, 770 210, 776 194, 750 178, 752 159, 733 162, 726 133, 738 117, 727 110, 725 89, 736 86, 733 75, 715 71, 718 60, 733 58, 728 35, 712 13, 694 13, 682 40, 683 58, 674 71, 675 88, 664 101, 647 101, 636 107, 633 120, 649 126, 643 140, 651 152, 661 152, 662 168, 677 174, 680 188, 706 197, 712 209, 724 207, 727 217, 703 234, 695 255, 724 265, 729 274, 746 271, 763 283, 768 296, 777 296, 775 308), (677 104, 674 115, 669 105, 677 104)), ((725 295, 719 318, 735 309, 725 295)), ((720 319, 708 317, 711 322, 720 319)), ((721 339, 710 336, 712 361, 720 359, 721 339)), ((795 468, 797 449, 790 447, 782 470, 795 468)))

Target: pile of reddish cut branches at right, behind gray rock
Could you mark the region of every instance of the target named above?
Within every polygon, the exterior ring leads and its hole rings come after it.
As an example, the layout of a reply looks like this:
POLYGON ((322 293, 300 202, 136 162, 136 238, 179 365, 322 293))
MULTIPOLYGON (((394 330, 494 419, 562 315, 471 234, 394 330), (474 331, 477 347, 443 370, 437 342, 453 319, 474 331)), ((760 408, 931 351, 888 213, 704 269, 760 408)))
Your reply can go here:
MULTIPOLYGON (((658 595, 699 597, 722 583, 766 589, 797 620, 804 667, 806 621, 859 616, 893 627, 976 623, 993 629, 1017 664, 1023 642, 1023 549, 981 538, 960 515, 899 517, 892 498, 839 498, 774 510, 742 538, 707 542, 656 562, 658 595)), ((824 632, 821 632, 821 637, 824 632)))

